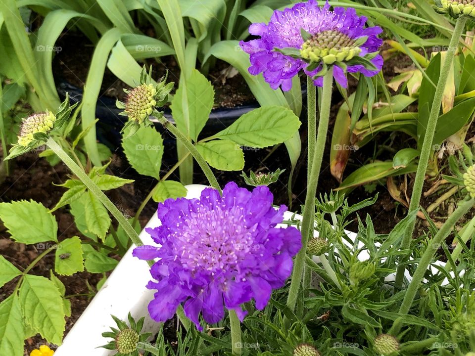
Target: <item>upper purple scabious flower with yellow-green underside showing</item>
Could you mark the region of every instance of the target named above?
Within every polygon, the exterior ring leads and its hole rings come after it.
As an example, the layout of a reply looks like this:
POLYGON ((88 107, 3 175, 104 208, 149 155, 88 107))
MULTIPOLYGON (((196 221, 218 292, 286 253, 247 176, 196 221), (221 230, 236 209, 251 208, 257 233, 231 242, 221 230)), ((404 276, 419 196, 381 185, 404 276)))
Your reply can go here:
POLYGON ((268 25, 252 24, 249 33, 260 38, 239 45, 250 54, 249 73, 262 73, 272 89, 290 90, 292 78, 301 69, 321 87, 322 69, 328 65, 333 66, 336 82, 347 88, 346 72, 372 77, 382 67, 377 52, 382 45, 378 38, 382 29, 365 28, 366 20, 354 8, 331 10, 328 2, 320 7, 317 1, 308 0, 274 11, 268 25))

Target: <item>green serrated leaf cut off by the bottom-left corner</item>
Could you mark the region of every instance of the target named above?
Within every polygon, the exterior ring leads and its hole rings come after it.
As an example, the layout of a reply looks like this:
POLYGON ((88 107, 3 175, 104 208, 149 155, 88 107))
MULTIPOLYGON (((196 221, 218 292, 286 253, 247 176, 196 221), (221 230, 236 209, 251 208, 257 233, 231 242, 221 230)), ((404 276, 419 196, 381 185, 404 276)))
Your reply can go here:
POLYGON ((23 356, 25 329, 17 294, 0 303, 0 355, 23 356))

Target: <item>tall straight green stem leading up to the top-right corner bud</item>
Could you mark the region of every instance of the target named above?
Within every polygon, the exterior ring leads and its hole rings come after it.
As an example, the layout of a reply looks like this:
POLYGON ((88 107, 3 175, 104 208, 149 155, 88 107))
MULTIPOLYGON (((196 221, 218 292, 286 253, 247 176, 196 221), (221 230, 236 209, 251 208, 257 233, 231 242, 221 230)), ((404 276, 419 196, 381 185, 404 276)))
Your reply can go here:
MULTIPOLYGON (((467 21, 466 16, 459 17, 455 24, 452 38, 450 39, 449 50, 445 57, 444 64, 440 70, 439 80, 437 82, 437 88, 435 89, 434 99, 432 101, 432 107, 430 108, 429 118, 427 121, 426 134, 424 136, 424 142, 421 149, 421 155, 419 156, 419 165, 417 167, 416 178, 414 180, 414 188, 411 195, 411 204, 409 205, 408 214, 411 214, 415 210, 419 209, 421 202, 422 189, 424 186, 424 179, 426 177, 427 165, 429 162, 430 153, 432 152, 432 141, 434 139, 435 128, 437 126, 437 119, 439 117, 440 105, 442 103, 442 97, 444 94, 445 84, 447 82, 450 67, 454 59, 455 50, 462 36, 462 32, 467 21)), ((411 247, 412 235, 414 228, 416 227, 416 220, 410 223, 406 229, 403 240, 401 242, 401 249, 406 250, 411 247)), ((400 289, 404 281, 405 260, 407 257, 401 259, 399 266, 397 267, 395 287, 400 289)))

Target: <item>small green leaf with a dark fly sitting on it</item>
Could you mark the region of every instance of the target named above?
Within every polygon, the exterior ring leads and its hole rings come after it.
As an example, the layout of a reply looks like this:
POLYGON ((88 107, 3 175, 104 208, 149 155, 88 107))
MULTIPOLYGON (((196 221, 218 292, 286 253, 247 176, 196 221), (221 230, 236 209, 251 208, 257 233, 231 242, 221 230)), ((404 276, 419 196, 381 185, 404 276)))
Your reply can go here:
POLYGON ((78 236, 73 236, 58 244, 54 270, 62 275, 73 275, 84 270, 83 249, 78 236))

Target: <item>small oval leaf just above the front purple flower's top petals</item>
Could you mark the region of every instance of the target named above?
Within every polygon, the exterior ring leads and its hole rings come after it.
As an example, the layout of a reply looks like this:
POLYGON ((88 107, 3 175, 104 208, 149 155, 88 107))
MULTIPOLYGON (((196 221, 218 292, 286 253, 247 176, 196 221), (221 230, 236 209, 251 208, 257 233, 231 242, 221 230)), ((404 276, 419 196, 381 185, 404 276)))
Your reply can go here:
POLYGON ((221 171, 240 171, 244 168, 244 153, 236 142, 224 139, 202 142, 196 149, 206 162, 221 171))

